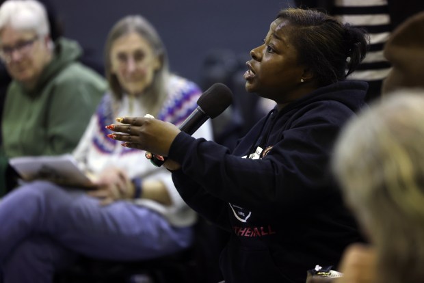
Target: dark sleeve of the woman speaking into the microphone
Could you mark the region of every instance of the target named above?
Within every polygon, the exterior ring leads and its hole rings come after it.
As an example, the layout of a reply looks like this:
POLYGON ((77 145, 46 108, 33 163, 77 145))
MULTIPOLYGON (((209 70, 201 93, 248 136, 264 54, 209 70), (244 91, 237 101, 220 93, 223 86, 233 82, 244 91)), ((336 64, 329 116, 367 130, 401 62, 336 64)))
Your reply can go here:
MULTIPOLYGON (((307 113, 291 122, 289 129, 279 132, 280 139, 275 139, 263 159, 235 156, 215 142, 194 139, 186 133, 178 134, 169 157, 181 163, 186 178, 194 180, 215 201, 218 198, 252 210, 269 211, 276 206, 306 204, 328 186, 323 176, 328 174, 333 141, 345 122, 343 117, 352 115, 350 110, 347 115, 346 109, 328 103, 311 105, 307 113)), ((178 186, 180 191, 182 186, 178 186)))

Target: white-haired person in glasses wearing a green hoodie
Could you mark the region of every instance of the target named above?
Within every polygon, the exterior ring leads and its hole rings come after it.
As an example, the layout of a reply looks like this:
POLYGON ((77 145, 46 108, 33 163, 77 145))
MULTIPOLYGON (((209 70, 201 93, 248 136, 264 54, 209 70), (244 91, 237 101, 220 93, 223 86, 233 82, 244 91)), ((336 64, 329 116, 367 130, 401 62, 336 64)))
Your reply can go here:
POLYGON ((0 196, 7 178, 10 183, 8 159, 72 152, 107 89, 78 62, 79 44, 53 42, 49 29, 38 1, 8 0, 0 7, 0 59, 13 79, 1 118, 0 196))

